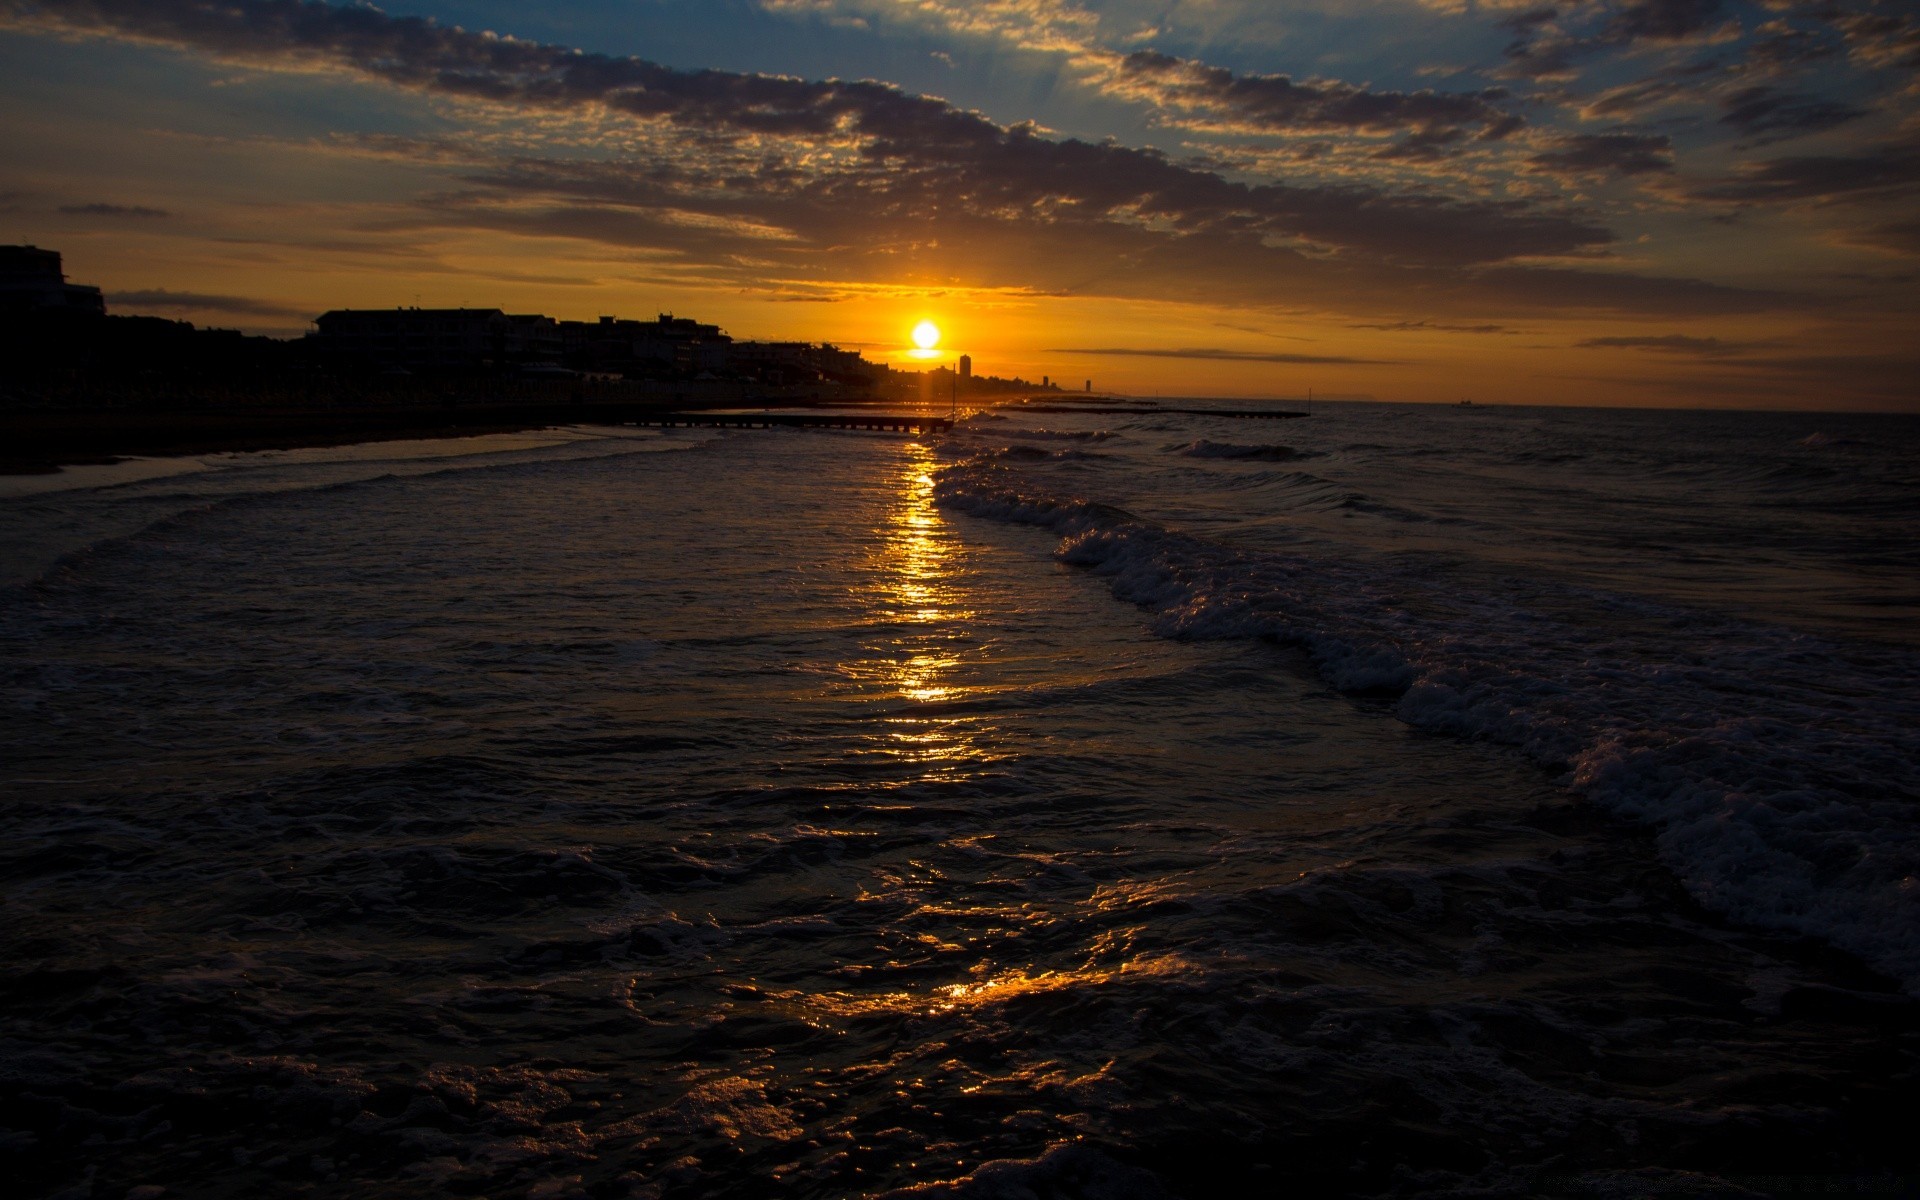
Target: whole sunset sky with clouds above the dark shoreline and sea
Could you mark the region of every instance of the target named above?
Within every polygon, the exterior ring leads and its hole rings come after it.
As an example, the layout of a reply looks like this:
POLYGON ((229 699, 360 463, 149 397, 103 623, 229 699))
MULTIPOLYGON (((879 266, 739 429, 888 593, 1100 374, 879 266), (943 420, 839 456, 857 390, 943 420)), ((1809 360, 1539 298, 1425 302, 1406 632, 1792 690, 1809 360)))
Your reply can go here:
POLYGON ((0 0, 0 242, 115 313, 1920 411, 1912 0, 0 0))

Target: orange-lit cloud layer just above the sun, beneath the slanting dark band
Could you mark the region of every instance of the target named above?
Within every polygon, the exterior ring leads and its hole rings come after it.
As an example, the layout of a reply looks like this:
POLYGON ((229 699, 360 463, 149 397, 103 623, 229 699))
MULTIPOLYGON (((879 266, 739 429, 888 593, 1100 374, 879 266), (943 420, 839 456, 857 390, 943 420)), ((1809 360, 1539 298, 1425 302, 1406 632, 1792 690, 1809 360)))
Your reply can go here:
MULTIPOLYGON (((685 165, 682 165, 685 169, 685 165)), ((599 242, 614 257, 647 253, 653 271, 714 288, 787 288, 829 294, 893 288, 902 280, 1046 296, 1125 296, 1206 305, 1311 303, 1356 317, 1400 315, 1419 301, 1465 323, 1538 319, 1549 311, 1634 315, 1743 313, 1791 298, 1690 278, 1548 267, 1473 267, 1308 253, 1258 228, 1213 227, 1169 236, 1139 223, 1048 223, 941 211, 922 200, 876 209, 847 180, 793 192, 732 188, 708 200, 705 221, 676 227, 662 215, 682 180, 618 163, 497 163, 465 194, 417 219, 424 236, 511 234, 599 242), (739 228, 733 228, 733 221, 739 228), (753 227, 778 225, 780 238, 753 227)), ((407 236, 405 228, 392 228, 407 236)))

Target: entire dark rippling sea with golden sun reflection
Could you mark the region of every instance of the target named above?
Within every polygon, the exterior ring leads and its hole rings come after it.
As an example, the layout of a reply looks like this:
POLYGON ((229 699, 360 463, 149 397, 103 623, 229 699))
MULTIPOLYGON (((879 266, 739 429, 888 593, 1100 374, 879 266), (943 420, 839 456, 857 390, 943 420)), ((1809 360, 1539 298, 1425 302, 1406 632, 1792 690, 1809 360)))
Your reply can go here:
POLYGON ((1920 1194, 1920 419, 1221 409, 0 480, 8 1194, 1920 1194))

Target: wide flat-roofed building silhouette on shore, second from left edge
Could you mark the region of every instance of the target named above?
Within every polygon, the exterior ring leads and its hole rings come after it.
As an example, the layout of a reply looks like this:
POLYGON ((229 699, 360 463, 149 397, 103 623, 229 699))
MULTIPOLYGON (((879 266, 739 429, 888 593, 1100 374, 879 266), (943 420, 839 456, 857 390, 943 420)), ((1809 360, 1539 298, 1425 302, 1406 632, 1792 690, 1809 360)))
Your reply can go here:
POLYGON ((551 363, 559 324, 499 309, 334 309, 315 317, 319 342, 342 359, 401 371, 478 371, 551 363))

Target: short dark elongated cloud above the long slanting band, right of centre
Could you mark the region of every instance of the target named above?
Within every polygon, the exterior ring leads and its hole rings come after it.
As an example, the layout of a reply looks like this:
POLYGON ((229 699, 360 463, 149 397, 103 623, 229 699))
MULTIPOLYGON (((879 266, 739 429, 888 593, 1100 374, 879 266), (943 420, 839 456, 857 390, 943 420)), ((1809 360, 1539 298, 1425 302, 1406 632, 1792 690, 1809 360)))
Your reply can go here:
POLYGON ((1286 75, 1235 75, 1154 50, 1121 60, 1108 86, 1246 132, 1413 132, 1438 146, 1461 140, 1467 131, 1498 140, 1524 125, 1500 106, 1505 88, 1373 92, 1344 83, 1294 83, 1286 75))

